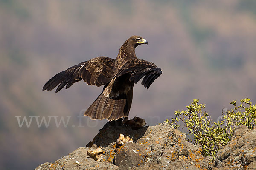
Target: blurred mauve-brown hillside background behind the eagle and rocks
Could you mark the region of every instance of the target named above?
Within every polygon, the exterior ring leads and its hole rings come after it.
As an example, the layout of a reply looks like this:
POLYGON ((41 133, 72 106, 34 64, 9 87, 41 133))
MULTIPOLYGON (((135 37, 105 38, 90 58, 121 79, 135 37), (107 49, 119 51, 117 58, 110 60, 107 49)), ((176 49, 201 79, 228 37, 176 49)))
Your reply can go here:
POLYGON ((137 57, 163 74, 149 90, 135 85, 129 117, 155 125, 200 99, 216 120, 234 99, 256 102, 255 0, 0 0, 0 169, 34 169, 93 139, 106 121, 78 116, 102 87, 42 87, 79 62, 116 58, 131 35, 148 40, 137 57), (20 128, 15 116, 71 117, 20 128))

